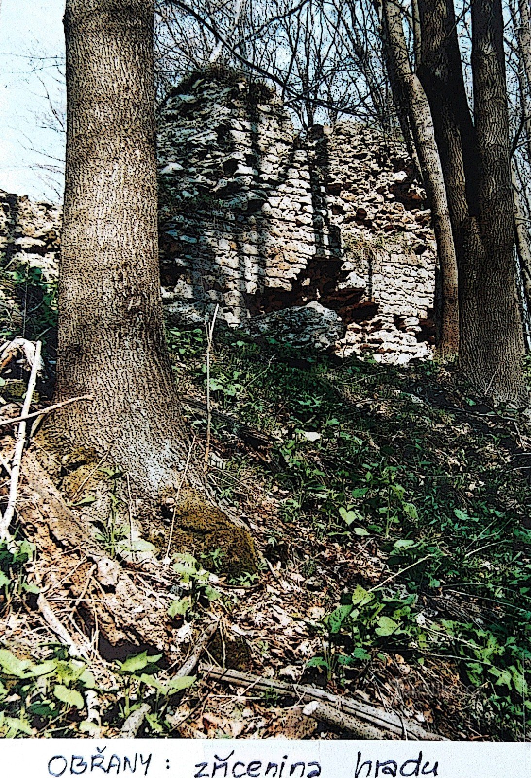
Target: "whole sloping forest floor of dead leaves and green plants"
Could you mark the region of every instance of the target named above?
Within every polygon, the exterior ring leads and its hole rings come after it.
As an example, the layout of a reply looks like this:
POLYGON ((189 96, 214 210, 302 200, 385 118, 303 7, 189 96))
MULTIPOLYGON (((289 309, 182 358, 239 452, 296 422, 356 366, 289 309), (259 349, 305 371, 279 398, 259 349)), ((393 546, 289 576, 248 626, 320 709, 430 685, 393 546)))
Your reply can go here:
MULTIPOLYGON (((206 337, 170 328, 168 338, 202 455, 206 337)), ((344 737, 307 715, 297 689, 313 685, 397 713, 406 734, 421 724, 456 740, 525 739, 531 437, 521 416, 477 401, 435 363, 340 361, 221 328, 211 375, 208 478, 249 525, 261 569, 231 579, 222 548, 181 555, 175 662, 94 654, 87 664, 41 618, 26 577, 35 550, 3 546, 0 734, 112 737, 147 702, 141 737, 344 737), (172 680, 213 622, 194 681, 172 680), (293 692, 214 681, 205 662, 293 692)), ((15 384, 2 385, 5 401, 15 384)))

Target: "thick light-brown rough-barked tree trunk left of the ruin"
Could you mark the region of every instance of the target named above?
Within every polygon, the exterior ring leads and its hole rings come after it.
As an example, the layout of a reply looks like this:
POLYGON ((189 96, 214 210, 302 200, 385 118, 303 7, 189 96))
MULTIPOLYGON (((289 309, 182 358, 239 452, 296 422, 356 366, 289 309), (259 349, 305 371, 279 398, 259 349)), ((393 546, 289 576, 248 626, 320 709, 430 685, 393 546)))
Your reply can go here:
POLYGON ((150 492, 186 459, 162 324, 152 0, 67 0, 59 420, 150 492))

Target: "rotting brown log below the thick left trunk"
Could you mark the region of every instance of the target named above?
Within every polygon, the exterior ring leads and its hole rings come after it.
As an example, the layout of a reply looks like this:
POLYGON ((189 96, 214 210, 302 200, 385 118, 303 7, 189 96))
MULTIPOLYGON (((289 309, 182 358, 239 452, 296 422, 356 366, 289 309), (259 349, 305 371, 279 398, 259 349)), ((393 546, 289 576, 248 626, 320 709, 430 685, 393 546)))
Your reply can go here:
POLYGON ((72 599, 82 619, 80 630, 92 631, 100 653, 109 659, 123 658, 134 647, 166 653, 171 644, 167 599, 137 584, 134 569, 108 558, 95 527, 82 524, 31 452, 24 457, 23 475, 19 520, 37 546, 33 573, 48 604, 72 599))

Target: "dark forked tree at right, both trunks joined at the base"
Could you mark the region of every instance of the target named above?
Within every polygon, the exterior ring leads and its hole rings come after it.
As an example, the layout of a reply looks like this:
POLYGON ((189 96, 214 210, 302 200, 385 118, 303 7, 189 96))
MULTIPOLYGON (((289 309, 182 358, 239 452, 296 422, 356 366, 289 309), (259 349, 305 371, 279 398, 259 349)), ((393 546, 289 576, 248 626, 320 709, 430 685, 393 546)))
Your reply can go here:
POLYGON ((459 268, 459 364, 495 401, 525 400, 499 2, 473 4, 474 122, 452 0, 419 0, 421 64, 459 268))

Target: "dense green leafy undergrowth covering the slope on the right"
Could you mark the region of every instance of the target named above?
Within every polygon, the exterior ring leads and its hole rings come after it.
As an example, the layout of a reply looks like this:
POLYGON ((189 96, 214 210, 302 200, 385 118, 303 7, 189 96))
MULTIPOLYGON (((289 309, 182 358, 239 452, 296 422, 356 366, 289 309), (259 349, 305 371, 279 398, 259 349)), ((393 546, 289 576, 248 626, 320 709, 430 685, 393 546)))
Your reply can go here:
MULTIPOLYGON (((204 394, 201 329, 169 331, 184 390, 204 394)), ((417 667, 449 661, 468 688, 480 731, 522 739, 531 703, 531 529, 521 419, 488 408, 433 363, 383 366, 258 345, 218 331, 215 407, 271 436, 252 467, 305 522, 386 562, 316 626, 328 677, 402 654, 417 667), (521 464, 523 466, 521 466, 521 464)), ((194 421, 204 433, 204 419, 194 421)), ((230 440, 222 419, 213 435, 230 440)), ((249 454, 225 447, 237 472, 249 454)), ((230 485, 223 496, 231 498, 230 485)), ((236 499, 236 497, 235 497, 236 499)), ((311 566, 311 559, 309 560, 311 566)))

